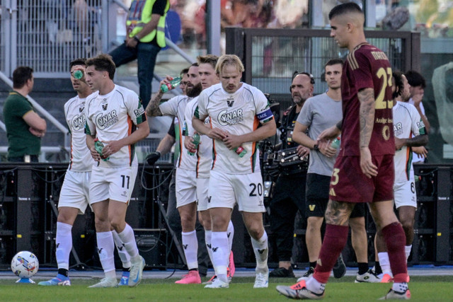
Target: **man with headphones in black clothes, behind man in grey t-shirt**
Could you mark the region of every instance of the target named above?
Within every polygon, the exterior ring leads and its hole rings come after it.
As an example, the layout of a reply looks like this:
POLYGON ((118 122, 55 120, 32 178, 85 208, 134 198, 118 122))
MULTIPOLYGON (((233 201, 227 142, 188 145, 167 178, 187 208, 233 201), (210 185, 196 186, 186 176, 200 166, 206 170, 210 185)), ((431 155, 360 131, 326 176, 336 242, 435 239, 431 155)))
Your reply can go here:
MULTIPOLYGON (((297 116, 307 98, 313 95, 314 78, 306 72, 295 71, 289 86, 292 101, 283 114, 280 126, 282 149, 297 148, 297 155, 304 158, 309 149, 295 143, 292 132, 297 116)), ((269 277, 294 277, 291 266, 292 245, 294 240, 294 219, 297 210, 305 216, 305 180, 308 164, 289 165, 280 171, 275 183, 275 192, 270 202, 270 228, 276 238, 278 268, 270 272, 269 277)))

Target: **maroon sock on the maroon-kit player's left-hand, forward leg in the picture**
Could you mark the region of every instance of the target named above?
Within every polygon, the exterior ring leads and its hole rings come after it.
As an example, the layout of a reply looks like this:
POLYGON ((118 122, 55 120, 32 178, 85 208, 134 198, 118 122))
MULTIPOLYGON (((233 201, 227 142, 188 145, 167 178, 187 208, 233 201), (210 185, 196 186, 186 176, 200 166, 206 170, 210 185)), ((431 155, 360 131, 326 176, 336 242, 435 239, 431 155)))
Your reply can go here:
POLYGON ((331 275, 333 265, 338 259, 340 252, 348 240, 349 226, 335 226, 326 224, 326 233, 324 234, 323 245, 319 252, 319 260, 314 269, 313 277, 317 281, 326 284, 328 277, 331 275))

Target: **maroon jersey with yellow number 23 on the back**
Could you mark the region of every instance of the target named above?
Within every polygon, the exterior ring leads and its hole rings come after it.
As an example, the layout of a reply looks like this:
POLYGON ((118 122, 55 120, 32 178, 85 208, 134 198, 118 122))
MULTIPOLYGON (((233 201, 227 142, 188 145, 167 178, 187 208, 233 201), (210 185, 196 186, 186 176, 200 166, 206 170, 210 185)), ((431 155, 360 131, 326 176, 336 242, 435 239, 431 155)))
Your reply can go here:
POLYGON ((372 155, 395 153, 391 75, 389 59, 373 45, 360 44, 348 54, 341 76, 343 156, 360 156, 360 101, 357 93, 363 88, 374 89, 376 109, 369 150, 372 155))

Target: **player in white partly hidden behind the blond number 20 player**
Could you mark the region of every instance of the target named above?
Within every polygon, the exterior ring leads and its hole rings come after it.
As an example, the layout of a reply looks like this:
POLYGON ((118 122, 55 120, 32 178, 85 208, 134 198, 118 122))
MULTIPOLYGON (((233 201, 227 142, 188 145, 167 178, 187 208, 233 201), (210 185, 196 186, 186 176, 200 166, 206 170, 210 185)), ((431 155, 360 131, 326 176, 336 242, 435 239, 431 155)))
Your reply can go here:
MULTIPOLYGON (((200 82, 203 90, 210 88, 212 85, 219 83, 219 76, 215 72, 215 65, 219 57, 213 54, 207 54, 205 56, 197 57, 198 62, 198 74, 200 75, 200 82)), ((212 139, 206 135, 200 136, 200 144, 195 149, 193 144, 193 134, 195 134, 195 129, 192 127, 192 117, 195 114, 195 110, 198 105, 198 98, 195 97, 185 107, 185 124, 187 137, 184 139, 185 148, 190 150, 194 156, 197 157, 197 211, 199 213, 198 219, 202 223, 203 228, 205 228, 205 242, 207 252, 210 255, 210 260, 212 261, 212 227, 211 227, 211 216, 207 210, 208 204, 208 188, 210 182, 210 170, 212 165, 212 139)), ((205 120, 205 124, 210 124, 210 118, 208 117, 205 120)), ((229 244, 229 267, 227 271, 228 280, 231 281, 231 278, 234 275, 234 258, 233 252, 231 252, 231 247, 233 245, 234 238, 234 226, 231 220, 228 223, 228 229, 226 231, 228 236, 229 244)), ((205 282, 205 284, 211 284, 217 276, 214 275, 212 278, 205 282)))

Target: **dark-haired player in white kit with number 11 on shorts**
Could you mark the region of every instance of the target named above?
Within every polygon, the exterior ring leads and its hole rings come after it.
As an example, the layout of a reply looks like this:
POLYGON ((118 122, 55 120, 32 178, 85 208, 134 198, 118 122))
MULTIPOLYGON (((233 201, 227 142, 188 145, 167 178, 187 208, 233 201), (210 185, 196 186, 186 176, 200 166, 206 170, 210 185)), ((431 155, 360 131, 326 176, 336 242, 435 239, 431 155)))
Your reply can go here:
POLYGON ((97 162, 92 167, 90 204, 95 214, 98 254, 105 278, 90 287, 116 287, 114 241, 118 233, 130 255, 129 286, 142 280, 144 259, 139 255, 134 231, 125 222, 127 204, 137 176, 134 144, 149 134, 147 117, 137 93, 113 83, 115 64, 108 54, 86 61, 86 83, 93 91, 86 100, 86 145, 97 162), (104 145, 96 151, 95 139, 104 145))

